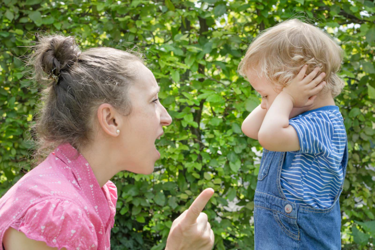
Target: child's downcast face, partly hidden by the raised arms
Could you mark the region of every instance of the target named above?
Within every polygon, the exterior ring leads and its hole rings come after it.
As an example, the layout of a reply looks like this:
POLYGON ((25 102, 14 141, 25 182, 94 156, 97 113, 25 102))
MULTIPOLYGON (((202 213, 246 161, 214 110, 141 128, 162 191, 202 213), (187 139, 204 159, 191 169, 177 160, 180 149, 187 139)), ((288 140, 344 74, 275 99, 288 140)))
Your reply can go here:
POLYGON ((273 89, 264 76, 258 77, 255 70, 248 70, 246 77, 256 92, 262 96, 260 107, 268 110, 282 88, 276 86, 275 89, 273 89))

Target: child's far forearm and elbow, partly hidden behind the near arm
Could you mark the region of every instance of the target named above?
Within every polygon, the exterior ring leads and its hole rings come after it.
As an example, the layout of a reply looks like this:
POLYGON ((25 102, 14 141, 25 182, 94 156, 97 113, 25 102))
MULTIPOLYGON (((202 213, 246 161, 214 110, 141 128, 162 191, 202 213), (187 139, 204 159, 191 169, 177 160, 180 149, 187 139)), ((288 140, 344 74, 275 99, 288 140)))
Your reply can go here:
POLYGON ((261 108, 260 105, 257 106, 242 123, 242 132, 244 132, 246 136, 258 140, 258 132, 266 113, 267 109, 261 108))

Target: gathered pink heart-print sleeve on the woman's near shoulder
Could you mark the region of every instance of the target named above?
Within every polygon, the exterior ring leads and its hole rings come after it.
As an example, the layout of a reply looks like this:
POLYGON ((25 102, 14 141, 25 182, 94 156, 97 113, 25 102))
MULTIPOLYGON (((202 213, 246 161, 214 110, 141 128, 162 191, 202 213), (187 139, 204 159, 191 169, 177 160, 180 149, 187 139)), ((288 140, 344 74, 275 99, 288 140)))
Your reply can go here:
POLYGON ((67 250, 96 250, 95 228, 78 205, 62 199, 34 203, 15 229, 49 247, 67 250))

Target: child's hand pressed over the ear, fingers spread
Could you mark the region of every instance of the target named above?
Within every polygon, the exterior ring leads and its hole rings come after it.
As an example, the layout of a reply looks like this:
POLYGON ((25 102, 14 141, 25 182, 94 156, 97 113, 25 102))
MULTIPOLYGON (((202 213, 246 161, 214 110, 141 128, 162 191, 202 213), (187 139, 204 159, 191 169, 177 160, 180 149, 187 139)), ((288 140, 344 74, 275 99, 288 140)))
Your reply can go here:
POLYGON ((319 72, 319 68, 315 68, 308 76, 304 77, 306 70, 307 65, 302 67, 291 84, 283 88, 282 92, 290 96, 293 107, 305 107, 313 104, 317 97, 316 95, 326 84, 326 82, 322 82, 326 73, 323 72, 315 78, 316 74, 319 72))

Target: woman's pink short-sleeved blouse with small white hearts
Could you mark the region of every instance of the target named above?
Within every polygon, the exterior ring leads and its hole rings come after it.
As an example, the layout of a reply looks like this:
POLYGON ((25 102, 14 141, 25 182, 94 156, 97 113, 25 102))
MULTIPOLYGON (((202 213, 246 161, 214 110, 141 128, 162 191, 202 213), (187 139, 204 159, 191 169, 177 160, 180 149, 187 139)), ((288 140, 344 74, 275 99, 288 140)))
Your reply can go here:
POLYGON ((0 199, 0 250, 9 227, 49 247, 109 250, 116 202, 116 186, 100 187, 83 155, 62 144, 0 199))

